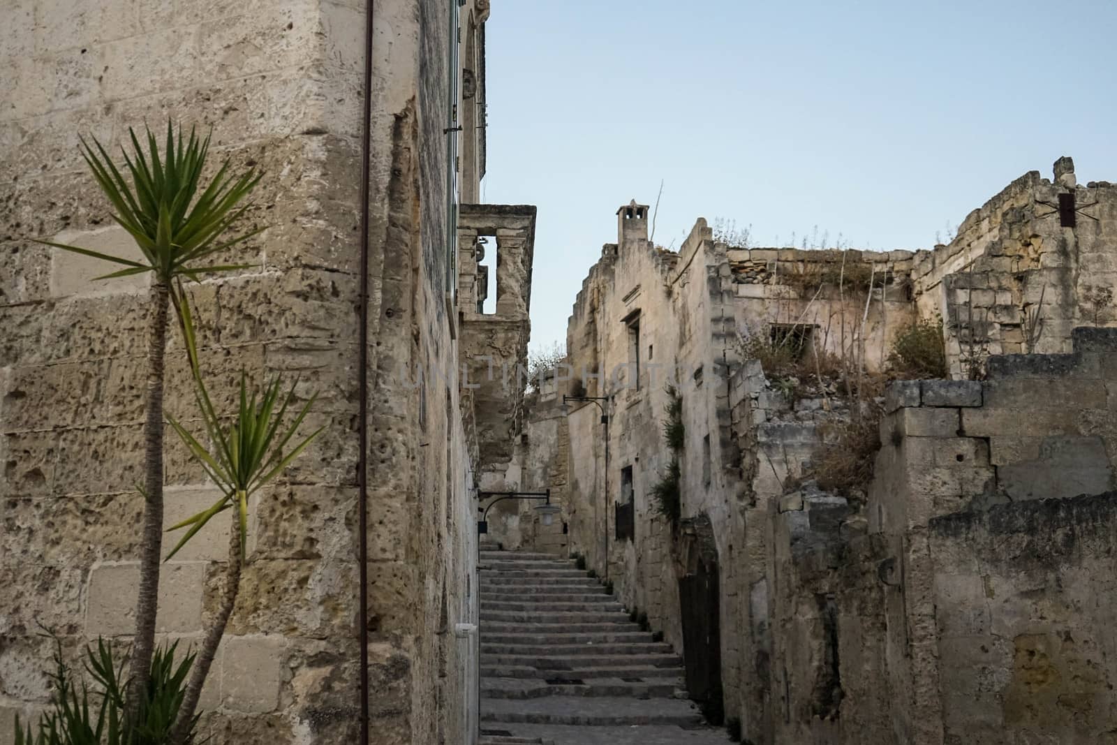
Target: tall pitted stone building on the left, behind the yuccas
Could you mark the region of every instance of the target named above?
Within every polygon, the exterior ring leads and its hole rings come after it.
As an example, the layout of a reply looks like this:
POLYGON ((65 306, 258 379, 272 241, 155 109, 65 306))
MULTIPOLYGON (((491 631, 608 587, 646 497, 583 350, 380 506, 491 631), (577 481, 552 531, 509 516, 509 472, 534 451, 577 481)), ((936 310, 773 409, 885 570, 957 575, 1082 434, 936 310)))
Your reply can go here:
MULTIPOLYGON (((214 394, 230 400, 240 370, 298 375, 300 398, 319 393, 306 426, 325 427, 251 505, 203 732, 213 743, 355 742, 366 642, 371 742, 475 742, 478 650, 455 628, 477 621, 480 458, 496 453, 485 465, 496 468, 515 431, 475 417, 458 372, 489 328, 498 355, 524 356, 534 237, 534 208, 475 204, 488 4, 376 2, 367 78, 364 2, 16 0, 0 10, 0 742, 16 714, 47 699, 50 643, 37 624, 69 652, 97 636, 126 640, 137 574, 147 283, 90 281, 95 261, 30 239, 134 251, 78 136, 118 152, 127 127, 168 117, 212 127, 214 154, 265 173, 245 221, 268 228, 236 256, 252 268, 190 287, 214 394), (507 247, 494 268, 512 279, 495 318, 477 313, 487 292, 478 235, 507 247)), ((166 411, 194 421, 171 337, 166 411)), ((515 385, 484 394, 502 411, 523 398, 515 385)), ((170 431, 166 448, 175 522, 213 488, 170 431)), ((214 524, 164 565, 160 639, 200 639, 225 542, 214 524)))

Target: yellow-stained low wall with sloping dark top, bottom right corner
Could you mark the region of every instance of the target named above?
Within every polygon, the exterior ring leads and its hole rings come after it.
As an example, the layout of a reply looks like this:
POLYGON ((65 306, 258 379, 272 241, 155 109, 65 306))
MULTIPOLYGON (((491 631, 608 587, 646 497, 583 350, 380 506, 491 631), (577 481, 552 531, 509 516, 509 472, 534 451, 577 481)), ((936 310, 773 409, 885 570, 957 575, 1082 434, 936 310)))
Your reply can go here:
POLYGON ((1105 743, 1117 495, 930 522, 943 741, 1105 743))

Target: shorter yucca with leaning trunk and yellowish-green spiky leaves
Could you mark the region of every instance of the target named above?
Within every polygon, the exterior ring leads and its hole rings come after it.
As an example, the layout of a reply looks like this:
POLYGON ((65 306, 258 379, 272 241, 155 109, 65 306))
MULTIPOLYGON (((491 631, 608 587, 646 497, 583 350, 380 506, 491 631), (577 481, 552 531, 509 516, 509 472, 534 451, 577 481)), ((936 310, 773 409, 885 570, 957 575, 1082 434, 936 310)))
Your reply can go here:
POLYGON ((295 440, 299 424, 314 404, 316 394, 303 404, 298 413, 285 423, 288 410, 295 401, 295 385, 284 393, 278 375, 262 388, 249 391, 247 376, 240 375, 239 403, 232 417, 222 417, 213 407, 212 399, 206 388, 198 360, 197 337, 193 316, 190 311, 189 296, 181 287, 175 293, 175 309, 185 341, 187 354, 194 376, 194 392, 201 420, 206 429, 202 438, 210 445, 207 448, 202 440, 192 434, 173 417, 168 422, 179 434, 191 455, 201 465, 206 475, 221 489, 221 497, 208 509, 189 517, 169 531, 185 529, 187 532, 168 554, 170 560, 187 544, 207 523, 217 515, 232 510, 232 524, 229 531, 229 561, 226 566, 225 591, 210 628, 206 632, 202 647, 198 652, 197 663, 190 675, 185 698, 179 713, 179 720, 171 734, 172 745, 185 745, 185 735, 194 716, 202 685, 209 675, 213 656, 225 634, 229 617, 232 614, 240 589, 240 573, 246 556, 246 538, 248 532, 248 500, 278 476, 300 453, 324 428, 318 428, 311 434, 297 440, 297 445, 288 448, 295 440))

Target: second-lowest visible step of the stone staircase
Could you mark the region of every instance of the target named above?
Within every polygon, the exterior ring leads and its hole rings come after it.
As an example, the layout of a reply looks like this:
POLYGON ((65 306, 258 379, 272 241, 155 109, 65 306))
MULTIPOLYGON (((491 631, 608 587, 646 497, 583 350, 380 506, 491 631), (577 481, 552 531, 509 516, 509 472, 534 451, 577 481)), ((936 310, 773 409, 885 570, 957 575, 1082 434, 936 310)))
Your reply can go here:
POLYGON ((481 701, 481 722, 552 725, 697 725, 701 716, 690 701, 674 698, 582 698, 550 696, 527 700, 481 701))

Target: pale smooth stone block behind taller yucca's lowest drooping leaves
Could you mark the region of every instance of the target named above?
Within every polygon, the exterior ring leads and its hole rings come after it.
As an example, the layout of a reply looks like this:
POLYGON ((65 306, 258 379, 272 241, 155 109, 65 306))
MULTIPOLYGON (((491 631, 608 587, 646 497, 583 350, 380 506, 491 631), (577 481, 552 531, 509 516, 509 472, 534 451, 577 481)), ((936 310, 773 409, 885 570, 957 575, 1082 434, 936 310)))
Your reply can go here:
MULTIPOLYGON (((87 248, 109 256, 118 256, 130 261, 144 262, 140 247, 136 246, 127 231, 118 226, 97 230, 65 230, 55 236, 54 241, 87 248)), ((95 279, 125 268, 127 267, 92 256, 52 248, 50 255, 50 296, 90 295, 96 297, 146 292, 151 285, 151 273, 117 279, 95 279)))

